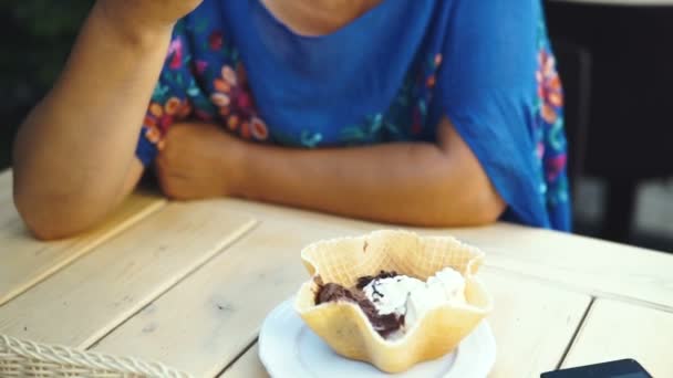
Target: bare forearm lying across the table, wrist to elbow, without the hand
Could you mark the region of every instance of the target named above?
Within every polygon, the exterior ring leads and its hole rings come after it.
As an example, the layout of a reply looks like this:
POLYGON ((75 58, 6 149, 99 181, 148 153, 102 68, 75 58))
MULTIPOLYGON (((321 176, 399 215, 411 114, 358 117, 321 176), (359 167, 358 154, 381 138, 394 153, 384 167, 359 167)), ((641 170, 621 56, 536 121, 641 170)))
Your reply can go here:
POLYGON ((444 146, 246 148, 238 193, 341 216, 414 225, 495 221, 505 204, 453 129, 444 146))

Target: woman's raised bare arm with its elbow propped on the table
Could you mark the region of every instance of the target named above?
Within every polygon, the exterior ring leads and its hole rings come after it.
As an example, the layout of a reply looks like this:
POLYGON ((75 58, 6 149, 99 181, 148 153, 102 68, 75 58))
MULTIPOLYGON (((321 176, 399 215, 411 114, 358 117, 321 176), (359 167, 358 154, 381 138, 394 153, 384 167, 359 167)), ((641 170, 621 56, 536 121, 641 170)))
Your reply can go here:
POLYGON ((52 91, 14 144, 14 201, 35 235, 102 219, 137 182, 142 119, 173 23, 200 0, 100 0, 52 91))

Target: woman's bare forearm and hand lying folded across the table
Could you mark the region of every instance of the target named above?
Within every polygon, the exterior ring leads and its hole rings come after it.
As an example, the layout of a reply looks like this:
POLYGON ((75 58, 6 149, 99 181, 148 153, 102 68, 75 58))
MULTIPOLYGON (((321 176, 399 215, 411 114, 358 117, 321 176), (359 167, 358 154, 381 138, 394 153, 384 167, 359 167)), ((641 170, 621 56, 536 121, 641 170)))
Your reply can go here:
POLYGON ((472 150, 446 119, 437 145, 319 150, 252 145, 213 126, 176 125, 168 132, 157 167, 162 187, 178 199, 231 195, 431 227, 489 223, 505 209, 472 150), (199 153, 188 158, 189 150, 199 153))

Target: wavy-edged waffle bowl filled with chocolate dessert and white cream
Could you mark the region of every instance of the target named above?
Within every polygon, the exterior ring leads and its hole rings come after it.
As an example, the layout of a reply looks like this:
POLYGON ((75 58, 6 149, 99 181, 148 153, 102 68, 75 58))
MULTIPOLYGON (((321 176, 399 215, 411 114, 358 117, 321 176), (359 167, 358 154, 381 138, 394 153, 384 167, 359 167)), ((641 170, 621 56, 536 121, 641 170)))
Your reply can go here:
POLYGON ((475 276, 484 253, 451 237, 376 231, 317 242, 301 259, 311 279, 297 313, 336 354, 385 372, 452 353, 493 306, 475 276))

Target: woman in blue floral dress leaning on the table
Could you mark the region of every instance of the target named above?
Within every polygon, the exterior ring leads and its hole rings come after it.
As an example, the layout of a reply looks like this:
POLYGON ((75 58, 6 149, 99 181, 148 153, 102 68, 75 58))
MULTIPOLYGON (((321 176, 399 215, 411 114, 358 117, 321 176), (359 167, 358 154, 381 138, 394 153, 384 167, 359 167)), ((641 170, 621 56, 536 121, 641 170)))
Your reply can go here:
POLYGON ((152 167, 180 200, 568 230, 542 20, 538 0, 99 0, 20 129, 17 207, 71 235, 152 167))

